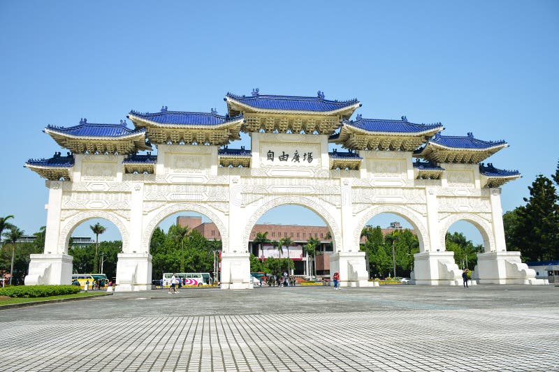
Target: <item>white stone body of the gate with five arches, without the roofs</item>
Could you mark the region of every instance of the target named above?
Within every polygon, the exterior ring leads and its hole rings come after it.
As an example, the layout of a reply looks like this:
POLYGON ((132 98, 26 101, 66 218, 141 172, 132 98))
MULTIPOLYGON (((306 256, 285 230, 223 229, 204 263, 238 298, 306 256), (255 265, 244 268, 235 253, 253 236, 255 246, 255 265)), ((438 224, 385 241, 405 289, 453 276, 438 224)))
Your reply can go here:
MULTIPOLYGON (((251 136, 252 168, 220 168, 215 146, 159 145, 155 174, 123 174, 124 156, 76 154, 73 181, 47 181, 45 252, 31 257, 29 283, 65 282, 73 230, 91 218, 105 218, 122 235, 117 290, 150 288, 152 233, 180 211, 204 214, 217 225, 222 288, 251 288, 249 234, 263 214, 284 204, 307 207, 328 225, 331 267, 340 271, 342 285, 370 285, 359 237, 377 214, 397 214, 413 225, 420 242, 414 275, 421 284, 460 280, 444 247, 444 235, 456 221, 478 228, 486 253, 506 250, 500 189, 481 188, 477 165, 442 164, 442 179, 417 180, 411 152, 360 151, 360 170, 330 170, 326 135, 251 136), (280 161, 285 154, 287 161, 280 161)), ((530 271, 511 269, 516 267, 512 258, 503 260, 484 256, 480 279, 502 283, 511 275, 515 281, 530 276, 530 271)))

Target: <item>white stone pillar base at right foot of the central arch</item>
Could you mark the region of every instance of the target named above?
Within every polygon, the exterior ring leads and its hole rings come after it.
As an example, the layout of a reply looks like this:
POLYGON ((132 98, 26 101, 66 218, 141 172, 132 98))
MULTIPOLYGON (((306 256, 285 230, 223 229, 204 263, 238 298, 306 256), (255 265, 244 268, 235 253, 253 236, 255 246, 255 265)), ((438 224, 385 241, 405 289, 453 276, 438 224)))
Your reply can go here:
POLYGON ((369 281, 365 252, 339 252, 330 255, 330 277, 340 272, 340 287, 374 287, 369 281))

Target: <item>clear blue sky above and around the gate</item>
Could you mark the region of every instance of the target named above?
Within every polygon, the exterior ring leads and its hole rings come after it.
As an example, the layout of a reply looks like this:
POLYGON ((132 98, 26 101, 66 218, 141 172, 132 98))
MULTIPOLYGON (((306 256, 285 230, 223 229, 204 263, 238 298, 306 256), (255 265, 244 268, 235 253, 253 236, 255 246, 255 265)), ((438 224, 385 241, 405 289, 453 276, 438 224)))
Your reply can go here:
POLYGON ((0 215, 45 225, 44 180, 23 164, 65 151, 47 124, 224 114, 227 91, 256 87, 507 140, 488 162, 523 174, 503 186, 514 209, 559 159, 558 36, 558 1, 1 1, 0 215))

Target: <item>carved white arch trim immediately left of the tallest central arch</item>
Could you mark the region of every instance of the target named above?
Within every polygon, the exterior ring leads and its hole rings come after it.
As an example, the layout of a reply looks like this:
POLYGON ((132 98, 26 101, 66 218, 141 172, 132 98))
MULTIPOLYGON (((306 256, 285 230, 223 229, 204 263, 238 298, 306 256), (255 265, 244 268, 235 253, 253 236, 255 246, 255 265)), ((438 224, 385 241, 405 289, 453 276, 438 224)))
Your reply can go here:
POLYGON ((157 228, 157 225, 159 225, 159 223, 161 223, 161 221, 163 221, 164 218, 167 218, 171 214, 175 214, 177 212, 182 212, 182 211, 194 211, 196 213, 203 214, 204 216, 210 218, 210 220, 213 223, 215 223, 215 225, 217 226, 217 230, 219 230, 219 234, 222 235, 223 251, 224 252, 228 251, 229 232, 222 218, 219 218, 219 216, 215 214, 215 212, 212 211, 211 209, 203 207, 200 204, 187 202, 187 203, 175 203, 175 204, 168 205, 167 207, 159 211, 159 213, 156 214, 150 220, 150 223, 148 223, 145 228, 144 235, 142 238, 142 247, 147 252, 150 251, 150 240, 152 239, 153 232, 155 231, 155 228, 157 228))

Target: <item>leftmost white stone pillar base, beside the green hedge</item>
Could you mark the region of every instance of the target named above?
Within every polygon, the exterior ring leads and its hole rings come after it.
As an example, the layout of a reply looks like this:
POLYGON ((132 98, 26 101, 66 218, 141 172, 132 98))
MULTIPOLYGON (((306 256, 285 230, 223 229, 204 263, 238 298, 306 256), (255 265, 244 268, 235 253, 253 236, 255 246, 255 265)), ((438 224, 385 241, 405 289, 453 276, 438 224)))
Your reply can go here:
POLYGON ((71 284, 72 261, 71 255, 42 254, 29 255, 29 274, 25 276, 25 285, 38 284, 71 284))

